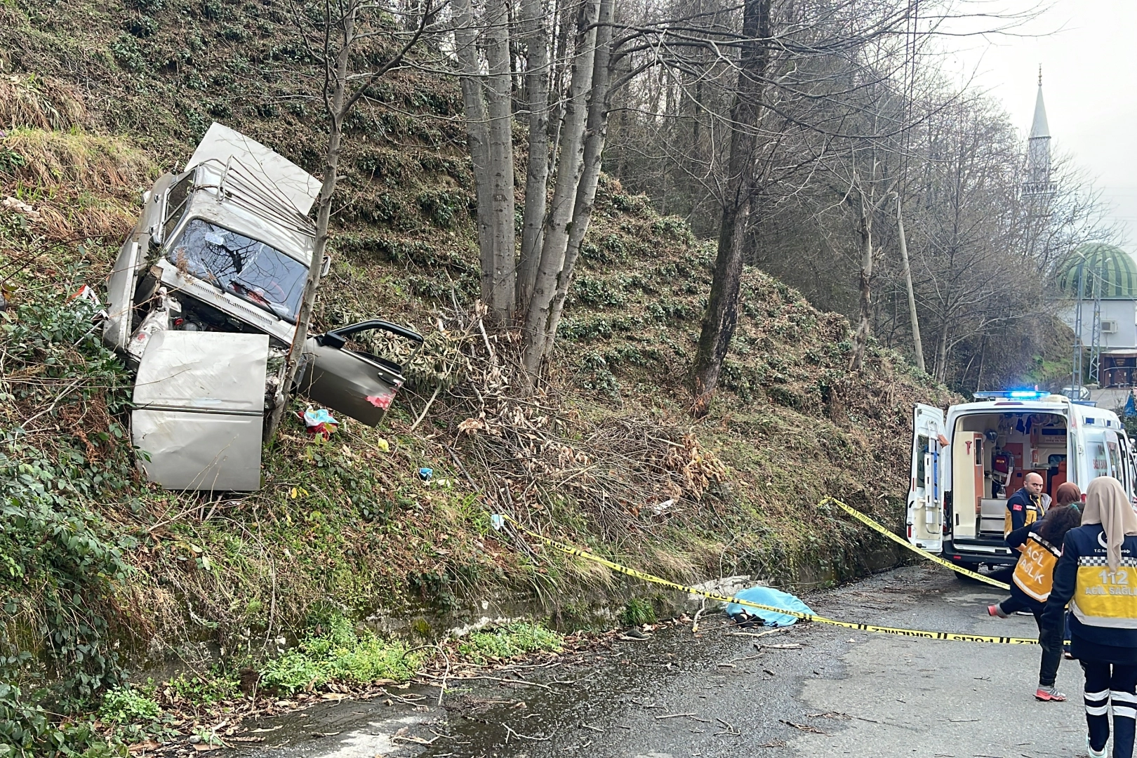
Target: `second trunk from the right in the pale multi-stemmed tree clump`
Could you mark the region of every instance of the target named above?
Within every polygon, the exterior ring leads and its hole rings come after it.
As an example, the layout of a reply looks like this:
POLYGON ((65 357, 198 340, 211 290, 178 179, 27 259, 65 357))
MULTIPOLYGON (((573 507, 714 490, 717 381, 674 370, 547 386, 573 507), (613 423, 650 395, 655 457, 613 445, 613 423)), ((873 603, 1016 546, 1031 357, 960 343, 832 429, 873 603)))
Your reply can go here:
POLYGON ((592 65, 596 58, 596 18, 599 0, 583 0, 573 52, 572 84, 565 103, 564 123, 561 127, 561 159, 557 178, 545 223, 545 239, 541 243, 541 259, 533 283, 533 297, 525 315, 524 367, 529 381, 536 382, 541 367, 548 338, 553 298, 556 294, 557 277, 564 267, 568 232, 573 218, 576 190, 584 169, 584 127, 588 118, 588 93, 592 85, 592 65))

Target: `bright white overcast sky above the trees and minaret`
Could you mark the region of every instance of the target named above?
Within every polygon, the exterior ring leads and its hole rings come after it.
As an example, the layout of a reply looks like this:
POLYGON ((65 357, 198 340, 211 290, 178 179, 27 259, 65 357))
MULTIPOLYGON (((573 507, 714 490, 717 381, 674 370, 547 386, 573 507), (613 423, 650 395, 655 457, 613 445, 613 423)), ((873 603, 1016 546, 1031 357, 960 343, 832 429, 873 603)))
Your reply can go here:
POLYGON ((1051 0, 1015 32, 1038 36, 957 42, 948 68, 961 81, 973 74, 1026 139, 1041 64, 1052 145, 1096 180, 1110 217, 1127 227, 1123 247, 1137 252, 1137 0, 1051 0))

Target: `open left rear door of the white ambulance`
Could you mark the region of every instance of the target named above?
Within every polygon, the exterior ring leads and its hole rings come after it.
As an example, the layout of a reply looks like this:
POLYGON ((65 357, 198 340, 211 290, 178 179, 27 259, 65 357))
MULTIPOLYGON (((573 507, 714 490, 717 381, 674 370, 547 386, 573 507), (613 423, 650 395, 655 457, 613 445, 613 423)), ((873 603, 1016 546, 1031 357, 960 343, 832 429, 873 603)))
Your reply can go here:
POLYGON ((946 423, 939 408, 916 403, 912 422, 912 482, 908 488, 908 541, 928 550, 944 549, 944 455, 946 423))

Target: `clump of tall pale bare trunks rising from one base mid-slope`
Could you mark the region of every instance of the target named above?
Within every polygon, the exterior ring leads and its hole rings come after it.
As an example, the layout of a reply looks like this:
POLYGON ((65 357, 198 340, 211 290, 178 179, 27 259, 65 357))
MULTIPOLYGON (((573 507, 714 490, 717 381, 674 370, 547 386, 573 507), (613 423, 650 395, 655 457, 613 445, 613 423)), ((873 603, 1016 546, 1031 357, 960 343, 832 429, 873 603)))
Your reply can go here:
MULTIPOLYGON (((508 8, 508 3, 492 1, 479 22, 470 0, 457 0, 455 47, 478 188, 482 294, 501 316, 501 324, 522 326, 524 367, 532 383, 551 355, 599 181, 614 58, 613 2, 582 0, 570 6, 575 9, 575 34, 570 41, 549 38, 541 0, 522 0, 516 35, 509 14, 493 10, 508 8), (485 40, 484 64, 478 48, 479 32, 485 40), (525 66, 520 99, 506 86, 511 77, 498 80, 493 73, 501 72, 500 60, 495 69, 495 50, 507 49, 514 38, 525 45, 525 55, 520 57, 525 66), (556 118, 550 119, 550 80, 557 78, 554 73, 559 69, 558 61, 550 59, 551 48, 567 56, 570 78, 556 118), (483 76, 483 68, 490 73, 483 76), (498 83, 483 85, 482 80, 498 83), (523 103, 529 122, 520 257, 514 255, 513 153, 507 139, 514 100, 523 103), (485 123, 488 128, 482 126, 485 123), (495 125, 500 125, 496 136, 495 125), (482 148, 483 140, 488 149, 482 148), (550 181, 553 197, 547 199, 550 181), (512 297, 508 305, 507 291, 512 297)), ((568 7, 559 7, 562 19, 567 11, 568 7)))

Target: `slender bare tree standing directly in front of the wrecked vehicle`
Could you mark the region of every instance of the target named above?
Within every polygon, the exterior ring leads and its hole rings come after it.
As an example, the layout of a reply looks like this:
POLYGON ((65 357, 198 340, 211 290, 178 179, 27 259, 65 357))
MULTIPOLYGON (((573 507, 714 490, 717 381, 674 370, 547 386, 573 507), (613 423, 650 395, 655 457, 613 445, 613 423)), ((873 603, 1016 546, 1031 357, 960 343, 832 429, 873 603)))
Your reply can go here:
POLYGON ((277 388, 269 416, 269 440, 284 414, 296 382, 300 355, 308 340, 312 309, 327 250, 332 197, 339 180, 337 172, 343 148, 343 122, 370 86, 402 64, 422 36, 432 14, 431 0, 424 0, 423 6, 417 9, 417 24, 414 27, 392 31, 381 17, 389 11, 365 0, 290 0, 288 9, 298 34, 307 45, 308 55, 316 61, 314 76, 321 82, 324 115, 327 119, 327 145, 324 150, 324 177, 316 201, 316 239, 304 284, 296 333, 284 361, 283 381, 277 388), (391 45, 387 55, 382 53, 381 42, 391 45), (358 70, 355 66, 359 63, 360 49, 365 47, 373 53, 366 58, 373 65, 358 70))

